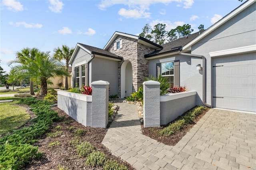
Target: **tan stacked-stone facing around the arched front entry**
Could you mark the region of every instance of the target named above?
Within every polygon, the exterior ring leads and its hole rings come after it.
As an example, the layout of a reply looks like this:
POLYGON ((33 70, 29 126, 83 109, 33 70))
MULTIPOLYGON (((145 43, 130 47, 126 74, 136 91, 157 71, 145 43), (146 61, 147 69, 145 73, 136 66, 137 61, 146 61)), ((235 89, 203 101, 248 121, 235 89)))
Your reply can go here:
POLYGON ((145 54, 151 53, 154 49, 140 44, 133 38, 118 36, 121 38, 123 47, 114 50, 114 43, 110 45, 108 51, 118 56, 123 57, 123 60, 118 63, 118 93, 121 94, 121 65, 125 60, 129 60, 132 64, 132 92, 138 91, 138 88, 143 83, 144 78, 148 76, 148 61, 144 58, 145 54))

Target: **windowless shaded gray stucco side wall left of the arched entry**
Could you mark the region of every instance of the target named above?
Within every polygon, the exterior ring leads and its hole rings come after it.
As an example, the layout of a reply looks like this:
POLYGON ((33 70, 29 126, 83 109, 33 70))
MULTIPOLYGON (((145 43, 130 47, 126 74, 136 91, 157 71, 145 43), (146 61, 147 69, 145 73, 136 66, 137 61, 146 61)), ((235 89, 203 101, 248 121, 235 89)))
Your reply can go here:
POLYGON ((118 61, 94 57, 91 62, 91 81, 108 81, 109 95, 118 94, 118 61))

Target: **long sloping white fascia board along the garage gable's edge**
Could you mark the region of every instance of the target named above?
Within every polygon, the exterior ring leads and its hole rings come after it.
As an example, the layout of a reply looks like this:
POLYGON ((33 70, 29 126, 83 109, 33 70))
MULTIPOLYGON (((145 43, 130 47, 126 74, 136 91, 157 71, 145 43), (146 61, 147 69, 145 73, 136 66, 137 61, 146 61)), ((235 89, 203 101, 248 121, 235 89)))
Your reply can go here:
POLYGON ((240 12, 242 12, 244 9, 246 9, 248 6, 250 6, 251 4, 253 4, 255 2, 256 2, 255 0, 248 0, 248 2, 244 2, 244 4, 242 4, 240 7, 236 8, 234 11, 230 12, 227 16, 224 16, 224 18, 220 19, 218 22, 216 22, 214 25, 212 25, 210 28, 208 28, 206 31, 204 31, 202 34, 200 34, 194 40, 192 40, 191 42, 184 45, 182 50, 186 50, 188 47, 191 48, 191 46, 194 45, 196 42, 198 42, 199 40, 201 40, 202 38, 204 38, 205 36, 207 36, 208 34, 213 32, 214 30, 216 30, 222 24, 224 24, 225 22, 227 22, 228 20, 230 20, 231 18, 233 18, 234 16, 236 16, 237 14, 239 14, 240 12))

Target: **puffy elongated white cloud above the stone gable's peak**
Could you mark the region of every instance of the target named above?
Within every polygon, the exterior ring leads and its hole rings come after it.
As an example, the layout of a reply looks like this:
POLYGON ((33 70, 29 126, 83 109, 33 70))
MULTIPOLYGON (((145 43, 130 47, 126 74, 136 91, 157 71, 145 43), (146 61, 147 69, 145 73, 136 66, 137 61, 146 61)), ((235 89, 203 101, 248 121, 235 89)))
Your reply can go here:
POLYGON ((138 18, 150 18, 150 14, 149 12, 145 12, 145 10, 126 10, 124 8, 121 8, 118 11, 118 14, 120 16, 123 16, 124 18, 134 18, 134 19, 138 19, 138 18))

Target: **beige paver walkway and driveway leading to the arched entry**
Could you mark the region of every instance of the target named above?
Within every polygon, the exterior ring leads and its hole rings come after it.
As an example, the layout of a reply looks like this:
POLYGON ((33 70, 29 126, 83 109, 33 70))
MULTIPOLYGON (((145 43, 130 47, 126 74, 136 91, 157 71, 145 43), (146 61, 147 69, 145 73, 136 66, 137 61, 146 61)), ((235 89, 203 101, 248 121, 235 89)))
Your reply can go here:
POLYGON ((102 143, 136 170, 256 170, 256 115, 210 109, 176 144, 141 132, 136 105, 120 109, 102 143))

